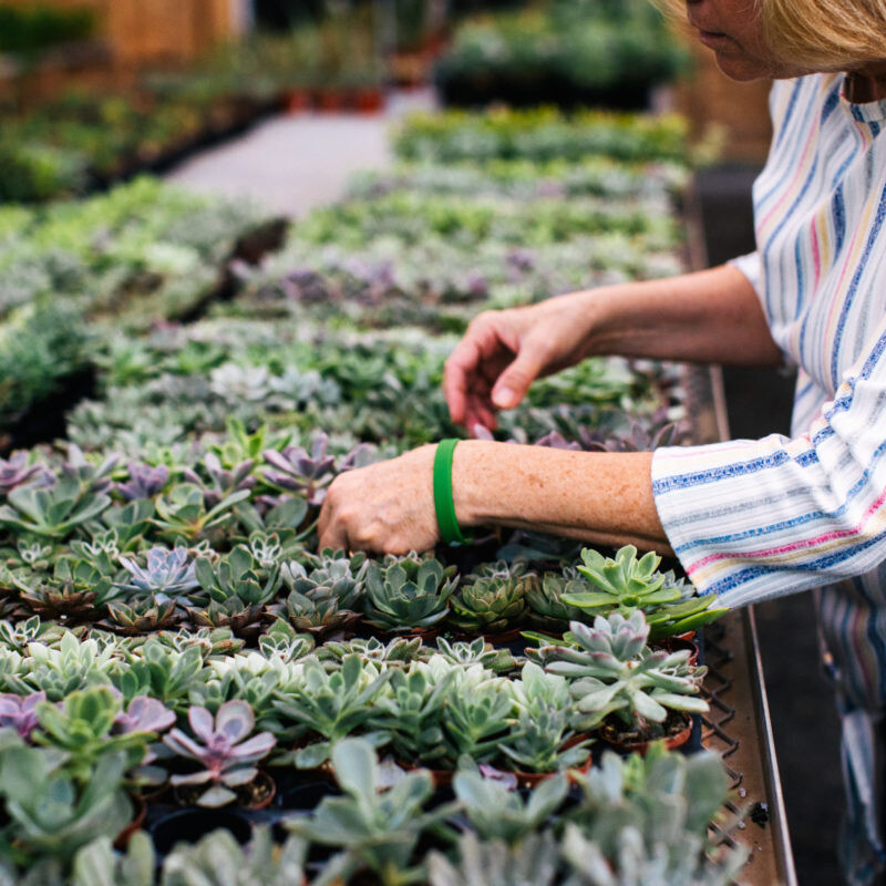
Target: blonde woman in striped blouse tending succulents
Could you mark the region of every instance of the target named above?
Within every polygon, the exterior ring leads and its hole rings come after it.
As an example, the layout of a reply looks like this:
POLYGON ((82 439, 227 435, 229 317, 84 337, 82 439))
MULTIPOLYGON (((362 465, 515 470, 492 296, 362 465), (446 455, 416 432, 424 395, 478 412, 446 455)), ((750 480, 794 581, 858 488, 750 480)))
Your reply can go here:
MULTIPOLYGON (((739 606, 823 587, 843 714, 851 883, 883 869, 886 697, 886 0, 689 0, 735 80, 776 79, 754 186, 758 250, 713 270, 490 312, 450 357, 452 418, 492 427, 533 380, 591 354, 799 367, 792 436, 577 453, 459 444, 459 526, 526 526, 671 549, 739 606)), ((440 538, 434 446, 339 477, 321 544, 403 553, 440 538)))

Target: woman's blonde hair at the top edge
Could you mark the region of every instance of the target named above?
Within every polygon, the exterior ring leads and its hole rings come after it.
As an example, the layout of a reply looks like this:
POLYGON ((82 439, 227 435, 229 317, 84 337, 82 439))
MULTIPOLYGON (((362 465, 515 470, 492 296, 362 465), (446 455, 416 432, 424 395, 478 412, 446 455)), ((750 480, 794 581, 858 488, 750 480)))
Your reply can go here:
MULTIPOLYGON (((655 0, 686 18, 686 0, 655 0)), ((748 0, 776 56, 816 71, 886 59, 886 0, 748 0)))

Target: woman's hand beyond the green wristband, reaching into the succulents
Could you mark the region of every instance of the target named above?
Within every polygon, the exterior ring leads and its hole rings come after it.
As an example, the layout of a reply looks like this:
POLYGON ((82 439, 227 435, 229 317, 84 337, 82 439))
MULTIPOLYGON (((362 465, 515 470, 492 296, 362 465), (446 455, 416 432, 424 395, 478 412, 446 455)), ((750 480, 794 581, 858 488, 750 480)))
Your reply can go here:
POLYGON ((336 477, 320 511, 320 548, 406 554, 434 547, 435 452, 422 446, 336 477))

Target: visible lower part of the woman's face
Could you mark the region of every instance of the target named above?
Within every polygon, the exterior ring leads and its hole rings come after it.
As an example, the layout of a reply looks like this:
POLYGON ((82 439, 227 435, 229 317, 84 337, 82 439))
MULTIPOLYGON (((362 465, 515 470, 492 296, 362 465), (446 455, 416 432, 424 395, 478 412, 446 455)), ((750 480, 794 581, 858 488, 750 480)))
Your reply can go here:
POLYGON ((732 80, 790 78, 808 73, 776 60, 766 47, 756 0, 687 0, 689 23, 732 80))

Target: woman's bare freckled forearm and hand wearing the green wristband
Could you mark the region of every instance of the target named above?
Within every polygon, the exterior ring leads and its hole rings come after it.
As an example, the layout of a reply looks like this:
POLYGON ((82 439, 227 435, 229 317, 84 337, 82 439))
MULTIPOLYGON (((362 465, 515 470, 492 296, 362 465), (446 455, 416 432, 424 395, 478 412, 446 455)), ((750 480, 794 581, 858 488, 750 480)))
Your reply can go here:
MULTIPOLYGON (((439 540, 435 446, 339 476, 320 514, 320 547, 405 554, 439 540)), ((468 440, 455 449, 459 524, 514 526, 669 550, 656 512, 652 454, 598 453, 468 440)))

